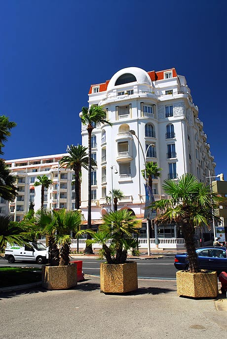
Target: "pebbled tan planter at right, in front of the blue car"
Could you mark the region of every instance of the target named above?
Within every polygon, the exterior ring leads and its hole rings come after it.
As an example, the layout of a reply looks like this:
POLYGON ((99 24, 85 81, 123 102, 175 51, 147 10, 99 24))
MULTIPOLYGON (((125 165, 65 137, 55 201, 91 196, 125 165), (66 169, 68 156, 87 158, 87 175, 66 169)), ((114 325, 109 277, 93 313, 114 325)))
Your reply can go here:
POLYGON ((178 271, 177 294, 193 298, 216 298, 218 279, 216 271, 201 270, 199 273, 178 271))

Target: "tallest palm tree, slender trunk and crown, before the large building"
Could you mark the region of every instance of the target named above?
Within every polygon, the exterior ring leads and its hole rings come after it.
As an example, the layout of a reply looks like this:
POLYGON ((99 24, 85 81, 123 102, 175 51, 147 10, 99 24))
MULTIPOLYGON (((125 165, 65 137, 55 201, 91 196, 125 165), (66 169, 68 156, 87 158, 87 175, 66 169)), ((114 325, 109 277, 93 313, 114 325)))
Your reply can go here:
MULTIPOLYGON (((106 111, 102 106, 91 105, 90 108, 82 107, 82 112, 79 113, 81 122, 87 126, 88 132, 88 207, 87 207, 87 228, 91 228, 91 133, 94 129, 94 124, 99 127, 103 123, 112 126, 112 123, 106 119, 106 111)), ((88 235, 88 239, 90 235, 88 235)), ((91 246, 85 248, 84 253, 93 253, 91 246)))

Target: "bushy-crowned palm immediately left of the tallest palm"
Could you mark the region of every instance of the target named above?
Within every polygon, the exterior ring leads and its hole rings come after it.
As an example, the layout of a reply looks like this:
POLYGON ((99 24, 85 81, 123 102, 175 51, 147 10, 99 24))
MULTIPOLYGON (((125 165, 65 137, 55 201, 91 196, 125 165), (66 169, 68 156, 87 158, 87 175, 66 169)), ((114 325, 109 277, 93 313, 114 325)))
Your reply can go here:
MULTIPOLYGON (((88 169, 88 154, 87 148, 81 145, 71 145, 69 149, 70 155, 65 155, 59 161, 61 167, 66 165, 66 168, 74 170, 75 173, 75 208, 79 209, 79 191, 80 191, 80 173, 81 168, 88 169)), ((91 159, 91 165, 96 166, 96 162, 91 159)))

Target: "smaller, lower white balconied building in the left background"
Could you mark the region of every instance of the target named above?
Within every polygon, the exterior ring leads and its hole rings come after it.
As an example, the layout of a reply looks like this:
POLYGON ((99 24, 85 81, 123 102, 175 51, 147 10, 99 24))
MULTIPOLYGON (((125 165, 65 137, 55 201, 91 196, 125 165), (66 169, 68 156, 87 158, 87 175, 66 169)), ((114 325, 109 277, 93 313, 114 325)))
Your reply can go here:
POLYGON ((36 156, 31 158, 7 160, 11 173, 18 177, 18 196, 13 202, 0 198, 0 214, 9 214, 13 221, 21 221, 29 210, 30 202, 35 211, 41 205, 41 186, 34 187, 37 176, 46 175, 53 181, 44 191, 44 208, 75 209, 75 185, 72 184, 74 172, 59 168, 59 160, 67 153, 36 156))

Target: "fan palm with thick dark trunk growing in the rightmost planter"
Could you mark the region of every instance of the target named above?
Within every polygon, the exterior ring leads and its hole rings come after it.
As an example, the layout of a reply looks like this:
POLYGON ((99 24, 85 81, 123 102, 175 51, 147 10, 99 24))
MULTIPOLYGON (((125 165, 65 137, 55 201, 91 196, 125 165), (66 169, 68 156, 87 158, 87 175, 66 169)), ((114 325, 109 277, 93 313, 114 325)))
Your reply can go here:
POLYGON ((208 226, 219 218, 214 215, 221 201, 226 198, 218 197, 210 192, 210 187, 199 183, 192 174, 183 175, 178 182, 166 179, 163 181, 164 192, 171 196, 151 204, 158 214, 154 219, 157 225, 171 223, 182 226, 185 245, 189 257, 189 269, 192 273, 199 272, 197 255, 195 252, 195 227, 208 226), (214 218, 214 219, 213 219, 214 218))

